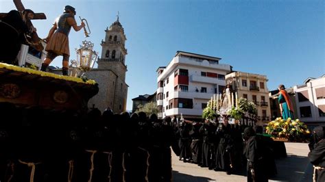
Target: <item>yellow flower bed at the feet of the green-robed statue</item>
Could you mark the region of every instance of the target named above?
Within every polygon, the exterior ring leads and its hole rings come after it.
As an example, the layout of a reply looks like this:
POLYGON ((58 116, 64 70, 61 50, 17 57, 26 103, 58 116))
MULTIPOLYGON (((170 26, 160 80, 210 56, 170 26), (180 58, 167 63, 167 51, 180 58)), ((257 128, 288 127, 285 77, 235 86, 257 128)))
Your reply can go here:
POLYGON ((304 122, 300 122, 299 119, 291 120, 291 118, 272 120, 266 127, 266 133, 273 135, 274 138, 285 138, 291 142, 304 142, 310 135, 304 122))

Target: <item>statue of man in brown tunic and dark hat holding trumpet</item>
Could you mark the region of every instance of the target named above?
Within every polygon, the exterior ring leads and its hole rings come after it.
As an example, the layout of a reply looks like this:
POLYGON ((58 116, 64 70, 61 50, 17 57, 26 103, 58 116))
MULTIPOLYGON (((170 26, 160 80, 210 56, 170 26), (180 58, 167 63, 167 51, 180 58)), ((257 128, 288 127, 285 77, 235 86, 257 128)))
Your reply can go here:
POLYGON ((51 64, 54 58, 58 55, 62 55, 62 75, 68 75, 70 56, 69 32, 71 27, 73 27, 75 31, 80 31, 80 29, 84 27, 83 22, 81 25, 77 25, 75 22, 75 14, 75 8, 71 5, 66 5, 63 14, 54 21, 53 26, 49 30, 49 35, 45 38, 45 42, 47 42, 47 46, 45 47, 47 57, 45 58, 40 70, 46 71, 47 66, 51 64))

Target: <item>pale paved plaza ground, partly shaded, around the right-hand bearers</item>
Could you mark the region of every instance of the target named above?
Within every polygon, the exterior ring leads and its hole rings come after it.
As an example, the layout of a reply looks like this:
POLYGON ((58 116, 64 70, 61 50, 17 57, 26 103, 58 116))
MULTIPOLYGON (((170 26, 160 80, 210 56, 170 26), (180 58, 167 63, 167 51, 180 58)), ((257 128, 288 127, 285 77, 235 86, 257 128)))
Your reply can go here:
MULTIPOLYGON (((278 174, 269 181, 312 181, 313 167, 309 163, 308 144, 285 143, 287 157, 276 159, 278 174)), ((179 161, 173 154, 173 181, 246 181, 245 169, 227 175, 226 172, 215 172, 208 168, 200 168, 196 164, 179 161)))

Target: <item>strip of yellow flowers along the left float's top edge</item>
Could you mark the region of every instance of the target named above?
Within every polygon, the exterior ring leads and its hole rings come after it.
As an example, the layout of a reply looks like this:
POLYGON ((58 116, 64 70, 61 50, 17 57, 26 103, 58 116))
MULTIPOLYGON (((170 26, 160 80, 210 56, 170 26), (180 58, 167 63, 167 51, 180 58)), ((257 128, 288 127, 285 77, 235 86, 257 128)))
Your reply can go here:
POLYGON ((86 84, 91 84, 94 85, 96 82, 94 80, 88 79, 84 81, 82 78, 76 78, 76 77, 68 77, 68 76, 63 76, 63 75, 56 75, 54 73, 48 73, 40 70, 34 70, 31 68, 22 68, 19 66, 14 66, 12 64, 5 64, 0 62, 0 68, 5 68, 8 70, 15 70, 23 73, 29 73, 29 74, 34 74, 34 75, 40 75, 42 77, 52 77, 55 79, 64 79, 67 81, 75 81, 77 83, 86 83, 86 84))

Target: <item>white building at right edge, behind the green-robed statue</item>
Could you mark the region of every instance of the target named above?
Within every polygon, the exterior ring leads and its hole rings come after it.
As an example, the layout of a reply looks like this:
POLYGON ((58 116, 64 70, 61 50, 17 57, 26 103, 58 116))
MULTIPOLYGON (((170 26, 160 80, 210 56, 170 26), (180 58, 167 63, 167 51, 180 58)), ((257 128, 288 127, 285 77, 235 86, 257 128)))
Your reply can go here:
POLYGON ((325 75, 294 86, 298 118, 306 125, 325 125, 325 75))

